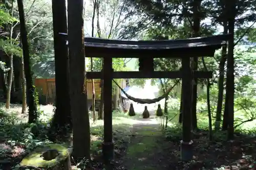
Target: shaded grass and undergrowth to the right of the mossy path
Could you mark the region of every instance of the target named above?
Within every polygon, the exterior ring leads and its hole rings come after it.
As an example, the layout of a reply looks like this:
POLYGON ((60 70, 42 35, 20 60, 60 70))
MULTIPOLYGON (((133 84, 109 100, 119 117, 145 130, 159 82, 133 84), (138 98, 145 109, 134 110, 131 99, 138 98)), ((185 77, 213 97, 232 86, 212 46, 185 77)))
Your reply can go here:
MULTIPOLYGON (((198 131, 192 133, 191 138, 194 141, 194 156, 193 160, 187 163, 180 162, 179 145, 182 139, 182 126, 178 123, 179 120, 179 100, 169 101, 168 117, 174 117, 168 122, 168 127, 165 130, 166 138, 172 142, 173 147, 169 150, 178 151, 177 153, 169 154, 172 158, 172 163, 175 165, 170 169, 255 169, 256 154, 253 152, 256 145, 256 120, 247 122, 235 129, 234 139, 227 141, 226 131, 213 131, 213 140, 208 138, 208 113, 205 102, 198 102, 198 131), (232 167, 232 168, 231 168, 232 167)), ((213 105, 213 104, 212 104, 213 105)), ((248 119, 248 114, 245 114, 243 109, 235 106, 234 118, 236 124, 248 119)), ((212 107, 214 108, 214 107, 212 107)), ((214 108, 216 109, 216 108, 214 108)), ((255 108, 251 108, 252 110, 255 108)), ((212 128, 215 123, 215 112, 211 112, 212 128)), ((254 114, 254 113, 252 113, 254 114)))

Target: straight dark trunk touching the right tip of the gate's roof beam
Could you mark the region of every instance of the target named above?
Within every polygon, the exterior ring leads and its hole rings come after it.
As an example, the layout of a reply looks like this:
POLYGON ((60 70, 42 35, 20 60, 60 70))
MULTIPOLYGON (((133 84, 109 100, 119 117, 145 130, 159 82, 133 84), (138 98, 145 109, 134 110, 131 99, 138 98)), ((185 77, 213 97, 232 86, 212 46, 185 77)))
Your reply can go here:
POLYGON ((227 90, 229 93, 228 99, 228 140, 234 137, 234 20, 236 17, 236 2, 227 1, 228 8, 228 33, 232 38, 228 42, 227 54, 227 90))

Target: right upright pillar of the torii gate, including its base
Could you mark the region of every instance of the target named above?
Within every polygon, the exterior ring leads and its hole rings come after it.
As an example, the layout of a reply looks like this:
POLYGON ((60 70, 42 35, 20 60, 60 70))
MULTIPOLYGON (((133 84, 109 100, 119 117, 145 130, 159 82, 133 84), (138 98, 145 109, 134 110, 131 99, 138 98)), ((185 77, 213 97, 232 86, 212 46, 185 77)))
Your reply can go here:
POLYGON ((191 68, 190 59, 182 58, 182 140, 181 160, 193 158, 193 141, 191 140, 191 68))

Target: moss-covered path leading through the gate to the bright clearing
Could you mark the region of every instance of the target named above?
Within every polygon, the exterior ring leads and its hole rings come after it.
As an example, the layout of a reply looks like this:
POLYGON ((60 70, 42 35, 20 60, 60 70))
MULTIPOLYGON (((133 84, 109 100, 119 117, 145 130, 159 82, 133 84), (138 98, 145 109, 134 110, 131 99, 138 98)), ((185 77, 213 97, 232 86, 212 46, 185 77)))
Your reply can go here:
POLYGON ((161 127, 155 118, 135 120, 132 134, 124 157, 125 169, 168 169, 168 162, 164 161, 165 154, 163 153, 168 147, 168 142, 165 141, 161 127))

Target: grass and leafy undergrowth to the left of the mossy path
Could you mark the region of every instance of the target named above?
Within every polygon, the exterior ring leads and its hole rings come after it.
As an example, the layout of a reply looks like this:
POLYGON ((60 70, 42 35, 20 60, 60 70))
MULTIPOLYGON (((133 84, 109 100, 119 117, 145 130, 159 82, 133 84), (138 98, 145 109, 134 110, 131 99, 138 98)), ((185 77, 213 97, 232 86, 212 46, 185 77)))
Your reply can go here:
MULTIPOLYGON (((19 162, 21 158, 38 145, 50 143, 47 139, 47 127, 49 120, 53 116, 52 105, 39 106, 39 122, 44 127, 40 131, 40 135, 35 137, 31 130, 33 125, 28 125, 27 113, 22 114, 20 105, 11 105, 11 109, 5 109, 5 105, 1 104, 0 108, 0 169, 11 169, 15 162, 19 162), (18 149, 17 149, 18 148, 18 149), (16 152, 16 150, 18 150, 16 152), (17 161, 13 161, 17 159, 17 161), (14 162, 12 164, 11 162, 14 162)), ((101 142, 103 140, 103 120, 92 121, 91 125, 91 151, 92 156, 97 158, 101 153, 101 142)), ((131 128, 134 119, 139 117, 137 114, 130 117, 127 114, 113 112, 113 138, 115 141, 115 150, 119 152, 119 148, 125 148, 125 144, 130 141, 131 128)), ((122 152, 120 150, 120 152, 122 152)))

